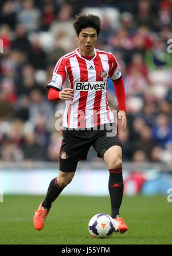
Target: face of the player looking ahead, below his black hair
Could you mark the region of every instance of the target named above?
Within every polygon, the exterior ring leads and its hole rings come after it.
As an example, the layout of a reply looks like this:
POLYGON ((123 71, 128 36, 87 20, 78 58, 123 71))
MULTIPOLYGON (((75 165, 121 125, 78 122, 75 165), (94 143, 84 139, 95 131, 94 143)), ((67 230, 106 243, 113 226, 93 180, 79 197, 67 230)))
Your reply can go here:
POLYGON ((96 42, 97 42, 97 32, 93 28, 82 29, 79 36, 76 36, 79 42, 79 49, 81 54, 88 55, 93 54, 96 42))

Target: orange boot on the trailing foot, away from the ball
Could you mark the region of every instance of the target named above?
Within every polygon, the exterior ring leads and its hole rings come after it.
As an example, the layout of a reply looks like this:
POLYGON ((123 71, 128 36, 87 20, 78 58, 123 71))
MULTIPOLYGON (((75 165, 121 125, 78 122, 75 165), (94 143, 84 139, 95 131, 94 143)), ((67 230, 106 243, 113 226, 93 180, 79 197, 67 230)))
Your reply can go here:
POLYGON ((35 214, 33 217, 33 225, 36 228, 36 230, 42 230, 48 213, 49 211, 46 211, 41 203, 40 206, 38 207, 38 210, 35 211, 35 214))

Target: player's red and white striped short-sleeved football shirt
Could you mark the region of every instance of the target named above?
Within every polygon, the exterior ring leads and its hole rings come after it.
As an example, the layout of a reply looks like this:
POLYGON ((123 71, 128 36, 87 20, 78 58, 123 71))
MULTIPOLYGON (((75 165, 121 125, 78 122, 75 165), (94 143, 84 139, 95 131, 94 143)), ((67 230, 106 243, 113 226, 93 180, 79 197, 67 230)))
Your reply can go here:
POLYGON ((91 128, 114 122, 107 102, 107 79, 119 79, 121 71, 112 53, 94 49, 91 60, 78 49, 62 56, 54 68, 48 87, 61 90, 64 82, 73 89, 73 99, 66 100, 64 127, 91 128))

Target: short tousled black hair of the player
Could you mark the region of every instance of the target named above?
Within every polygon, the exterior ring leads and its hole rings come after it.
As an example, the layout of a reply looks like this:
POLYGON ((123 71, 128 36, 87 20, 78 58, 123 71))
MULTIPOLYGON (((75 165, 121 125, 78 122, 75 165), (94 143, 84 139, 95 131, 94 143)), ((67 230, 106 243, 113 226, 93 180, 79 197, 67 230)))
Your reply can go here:
POLYGON ((101 30, 101 21, 99 16, 93 14, 79 14, 76 15, 76 20, 73 22, 73 27, 75 28, 76 34, 79 36, 82 29, 93 28, 96 29, 97 37, 99 36, 101 30))

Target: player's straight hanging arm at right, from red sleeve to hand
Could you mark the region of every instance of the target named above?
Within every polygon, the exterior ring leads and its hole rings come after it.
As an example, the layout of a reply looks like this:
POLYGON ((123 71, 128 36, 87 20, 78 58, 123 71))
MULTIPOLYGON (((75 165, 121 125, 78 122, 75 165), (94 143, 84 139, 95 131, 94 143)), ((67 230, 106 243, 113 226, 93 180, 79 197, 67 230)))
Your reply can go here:
POLYGON ((127 118, 126 118, 126 95, 122 73, 120 71, 120 67, 115 59, 115 56, 111 54, 112 60, 112 68, 109 72, 109 75, 114 83, 114 89, 116 98, 118 100, 118 119, 122 121, 121 127, 123 132, 127 127, 127 118))

